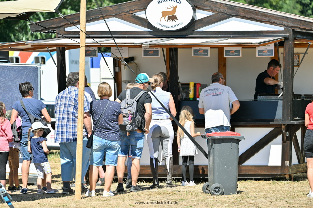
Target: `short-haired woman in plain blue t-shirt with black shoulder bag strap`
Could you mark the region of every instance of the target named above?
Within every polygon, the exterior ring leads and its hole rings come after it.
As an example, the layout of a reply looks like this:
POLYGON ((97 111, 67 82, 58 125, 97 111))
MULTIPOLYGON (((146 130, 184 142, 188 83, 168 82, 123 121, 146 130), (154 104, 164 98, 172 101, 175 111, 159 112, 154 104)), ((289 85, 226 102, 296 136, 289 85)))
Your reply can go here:
MULTIPOLYGON (((46 122, 51 122, 51 118, 46 109, 46 105, 41 101, 33 98, 34 88, 30 82, 24 82, 19 84, 19 91, 23 96, 23 104, 25 105, 26 110, 37 118, 41 118, 46 122)), ((16 101, 12 106, 12 116, 10 123, 14 123, 18 115, 22 118, 22 140, 21 140, 21 152, 23 154, 23 163, 22 163, 22 183, 23 188, 21 190, 22 194, 27 194, 27 182, 29 174, 29 166, 31 163, 31 153, 27 151, 28 148, 28 129, 31 127, 32 123, 23 109, 20 100, 16 101)), ((31 135, 33 136, 33 135, 31 135)), ((44 189, 44 188, 43 188, 44 189)), ((46 190, 44 190, 46 191, 46 190)))

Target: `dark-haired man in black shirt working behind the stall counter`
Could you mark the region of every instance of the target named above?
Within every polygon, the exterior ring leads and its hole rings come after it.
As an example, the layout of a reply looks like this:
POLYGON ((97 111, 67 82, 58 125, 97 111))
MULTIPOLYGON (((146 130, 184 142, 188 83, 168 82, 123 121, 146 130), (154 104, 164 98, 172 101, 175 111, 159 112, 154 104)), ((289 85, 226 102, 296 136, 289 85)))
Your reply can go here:
POLYGON ((275 88, 282 89, 283 83, 275 80, 275 75, 280 71, 279 61, 272 59, 267 65, 267 70, 261 72, 255 80, 254 99, 258 99, 258 94, 274 94, 275 88))

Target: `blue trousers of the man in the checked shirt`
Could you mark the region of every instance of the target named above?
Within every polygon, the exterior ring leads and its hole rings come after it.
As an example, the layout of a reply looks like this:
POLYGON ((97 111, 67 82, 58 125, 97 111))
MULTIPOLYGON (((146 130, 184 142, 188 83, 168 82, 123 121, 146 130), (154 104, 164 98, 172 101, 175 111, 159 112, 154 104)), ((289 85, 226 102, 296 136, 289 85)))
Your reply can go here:
MULTIPOLYGON (((83 138, 83 159, 81 183, 84 181, 85 174, 89 166, 89 157, 91 149, 86 148, 88 139, 83 138)), ((74 172, 76 170, 76 143, 77 142, 62 142, 60 144, 60 157, 61 157, 61 178, 62 181, 73 181, 74 172)), ((76 181, 76 180, 75 180, 76 181)))

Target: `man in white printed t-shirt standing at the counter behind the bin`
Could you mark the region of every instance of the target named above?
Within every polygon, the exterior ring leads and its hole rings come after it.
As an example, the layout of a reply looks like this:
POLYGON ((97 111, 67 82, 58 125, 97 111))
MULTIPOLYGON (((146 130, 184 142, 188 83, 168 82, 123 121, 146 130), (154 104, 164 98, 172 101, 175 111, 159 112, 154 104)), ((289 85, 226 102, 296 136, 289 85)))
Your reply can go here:
POLYGON ((224 85, 224 76, 216 72, 212 84, 200 93, 199 113, 204 114, 205 132, 229 131, 230 115, 239 109, 239 101, 233 90, 224 85), (233 108, 230 109, 230 103, 233 108))

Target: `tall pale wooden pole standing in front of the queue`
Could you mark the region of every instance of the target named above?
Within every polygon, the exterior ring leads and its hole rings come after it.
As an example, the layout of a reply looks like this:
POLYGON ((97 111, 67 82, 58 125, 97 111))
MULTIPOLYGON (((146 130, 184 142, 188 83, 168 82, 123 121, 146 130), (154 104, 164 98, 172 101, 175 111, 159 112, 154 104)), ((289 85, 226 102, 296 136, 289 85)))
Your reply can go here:
MULTIPOLYGON (((75 198, 81 199, 81 175, 83 159, 83 121, 84 121, 84 92, 85 92, 85 49, 86 49, 86 0, 80 1, 80 61, 78 82, 78 120, 77 120, 77 144, 76 144, 76 174, 75 174, 75 198)), ((85 174, 85 173, 84 173, 85 174)))

